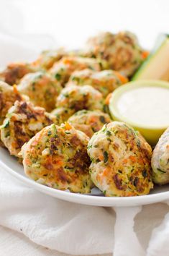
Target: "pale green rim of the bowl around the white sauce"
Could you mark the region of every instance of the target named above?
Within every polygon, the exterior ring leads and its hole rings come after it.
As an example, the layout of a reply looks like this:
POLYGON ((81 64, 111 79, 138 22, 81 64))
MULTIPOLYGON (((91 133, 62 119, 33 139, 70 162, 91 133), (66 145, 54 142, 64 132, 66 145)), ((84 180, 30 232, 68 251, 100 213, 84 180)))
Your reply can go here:
POLYGON ((163 126, 163 127, 158 127, 158 126, 150 126, 150 125, 141 125, 137 124, 134 121, 131 121, 124 117, 122 114, 119 113, 117 110, 117 101, 118 98, 125 93, 126 91, 135 89, 135 88, 143 88, 143 87, 159 87, 159 88, 168 88, 169 90, 169 82, 163 81, 163 80, 139 80, 139 81, 131 81, 127 82, 126 84, 120 86, 111 95, 110 101, 109 101, 109 110, 112 118, 118 119, 120 121, 124 121, 125 123, 131 125, 132 127, 137 127, 139 129, 146 129, 146 130, 153 130, 153 131, 159 131, 159 130, 165 130, 169 127, 169 122, 168 126, 163 126))

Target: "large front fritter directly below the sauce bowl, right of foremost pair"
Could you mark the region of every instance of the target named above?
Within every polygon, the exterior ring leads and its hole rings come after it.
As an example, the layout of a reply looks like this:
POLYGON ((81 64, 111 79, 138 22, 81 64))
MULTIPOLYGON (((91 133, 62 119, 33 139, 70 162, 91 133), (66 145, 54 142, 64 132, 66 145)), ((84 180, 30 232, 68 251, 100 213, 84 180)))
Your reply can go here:
POLYGON ((152 150, 145 139, 122 122, 111 122, 88 143, 91 180, 106 196, 147 195, 152 185, 152 150))

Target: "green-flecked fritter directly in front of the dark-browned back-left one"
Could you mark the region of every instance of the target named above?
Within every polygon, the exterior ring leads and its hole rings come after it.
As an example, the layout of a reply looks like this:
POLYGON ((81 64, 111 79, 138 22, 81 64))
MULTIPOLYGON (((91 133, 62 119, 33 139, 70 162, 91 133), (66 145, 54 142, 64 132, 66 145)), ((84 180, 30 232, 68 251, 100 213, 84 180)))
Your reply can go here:
POLYGON ((17 89, 20 93, 28 95, 35 106, 41 106, 50 112, 55 108, 55 101, 61 86, 50 74, 40 71, 26 74, 17 89))

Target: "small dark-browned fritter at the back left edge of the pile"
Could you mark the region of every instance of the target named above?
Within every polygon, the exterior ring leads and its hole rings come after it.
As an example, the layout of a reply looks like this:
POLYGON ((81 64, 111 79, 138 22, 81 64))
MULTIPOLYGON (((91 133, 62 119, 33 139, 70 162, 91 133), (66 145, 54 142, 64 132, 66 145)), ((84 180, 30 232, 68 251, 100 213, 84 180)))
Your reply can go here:
POLYGON ((32 64, 23 62, 10 63, 6 69, 0 73, 0 80, 9 85, 17 85, 25 74, 37 72, 37 68, 32 64))

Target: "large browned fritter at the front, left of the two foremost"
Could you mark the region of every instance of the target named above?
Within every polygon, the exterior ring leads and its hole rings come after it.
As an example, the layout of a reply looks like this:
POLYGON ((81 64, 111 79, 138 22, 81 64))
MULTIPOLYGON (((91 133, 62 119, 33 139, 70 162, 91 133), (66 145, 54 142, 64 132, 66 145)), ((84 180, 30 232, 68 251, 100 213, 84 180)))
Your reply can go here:
POLYGON ((70 124, 45 127, 22 147, 24 172, 36 182, 55 189, 88 193, 88 137, 70 124))

